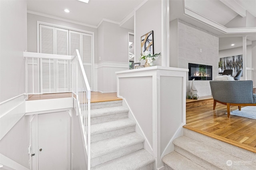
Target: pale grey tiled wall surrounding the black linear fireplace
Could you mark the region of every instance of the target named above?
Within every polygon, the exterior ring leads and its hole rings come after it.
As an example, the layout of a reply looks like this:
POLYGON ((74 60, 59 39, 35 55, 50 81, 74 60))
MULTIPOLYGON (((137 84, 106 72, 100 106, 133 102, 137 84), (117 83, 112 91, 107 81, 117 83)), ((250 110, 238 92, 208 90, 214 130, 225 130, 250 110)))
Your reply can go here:
MULTIPOLYGON (((176 40, 178 41, 178 59, 174 59, 176 66, 179 68, 188 68, 188 63, 205 64, 212 66, 212 78, 218 75, 219 62, 219 38, 209 31, 196 27, 182 20, 174 20, 170 22, 170 31, 177 27, 174 31, 177 32, 176 40), (172 23, 173 22, 173 23, 172 23)), ((170 39, 175 33, 170 32, 170 39)), ((175 40, 175 38, 174 38, 175 40)), ((172 40, 171 40, 172 41, 172 40)), ((172 43, 170 42, 170 45, 172 43)), ((176 54, 177 56, 177 54, 176 54)), ((175 57, 175 54, 170 57, 175 57)), ((170 63, 172 66, 172 64, 170 63)), ((175 66, 175 65, 173 65, 175 66)), ((187 93, 190 92, 192 80, 186 81, 187 93)), ((209 80, 194 81, 198 90, 199 96, 211 95, 209 80)))

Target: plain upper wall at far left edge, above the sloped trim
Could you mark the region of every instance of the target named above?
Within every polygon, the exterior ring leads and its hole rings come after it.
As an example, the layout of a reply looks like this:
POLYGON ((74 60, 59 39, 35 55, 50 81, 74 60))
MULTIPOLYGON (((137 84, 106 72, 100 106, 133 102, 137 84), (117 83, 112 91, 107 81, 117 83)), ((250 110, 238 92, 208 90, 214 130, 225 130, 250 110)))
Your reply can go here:
POLYGON ((0 102, 25 92, 26 1, 0 1, 0 102))

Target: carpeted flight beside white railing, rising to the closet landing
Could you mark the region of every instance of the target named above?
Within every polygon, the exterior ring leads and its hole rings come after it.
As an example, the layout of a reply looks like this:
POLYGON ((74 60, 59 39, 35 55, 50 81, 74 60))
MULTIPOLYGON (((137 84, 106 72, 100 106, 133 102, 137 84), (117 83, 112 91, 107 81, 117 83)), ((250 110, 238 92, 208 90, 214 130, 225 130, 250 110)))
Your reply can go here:
POLYGON ((122 101, 91 104, 91 170, 154 169, 128 111, 122 101))

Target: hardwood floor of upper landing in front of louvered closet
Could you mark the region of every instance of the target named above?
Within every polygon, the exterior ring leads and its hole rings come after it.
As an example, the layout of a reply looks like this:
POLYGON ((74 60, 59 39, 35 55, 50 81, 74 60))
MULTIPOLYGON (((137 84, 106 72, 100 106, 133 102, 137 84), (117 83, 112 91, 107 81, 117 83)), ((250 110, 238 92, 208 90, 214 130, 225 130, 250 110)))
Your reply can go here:
MULTIPOLYGON (((28 100, 42 100, 42 99, 54 99, 54 98, 69 98, 72 97, 72 93, 50 93, 50 94, 35 94, 29 95, 28 100)), ((116 93, 100 93, 91 92, 91 103, 96 102, 109 102, 122 100, 116 97, 116 93)))

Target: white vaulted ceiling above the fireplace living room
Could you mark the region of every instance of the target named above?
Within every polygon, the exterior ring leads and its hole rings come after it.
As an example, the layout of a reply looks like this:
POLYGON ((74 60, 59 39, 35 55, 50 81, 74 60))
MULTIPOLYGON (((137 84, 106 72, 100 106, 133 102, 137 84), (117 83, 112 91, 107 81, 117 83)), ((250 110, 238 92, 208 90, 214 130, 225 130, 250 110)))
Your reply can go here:
POLYGON ((184 6, 190 8, 196 13, 220 24, 225 27, 227 25, 233 25, 233 27, 240 27, 241 23, 238 24, 237 18, 243 18, 240 16, 240 12, 250 12, 251 16, 254 17, 256 25, 256 0, 170 0, 170 21, 180 18, 188 23, 196 25, 202 29, 210 31, 218 35, 219 38, 219 50, 230 49, 236 47, 242 47, 242 37, 247 36, 247 44, 251 45, 251 41, 256 40, 256 33, 236 33, 226 34, 218 31, 214 27, 211 27, 202 21, 195 20, 194 18, 184 15, 184 6), (232 5, 224 3, 233 3, 237 5, 236 9, 232 8, 232 5), (232 22, 232 24, 230 24, 232 22), (238 26, 236 26, 238 25, 238 26), (231 46, 231 44, 235 44, 231 46))

